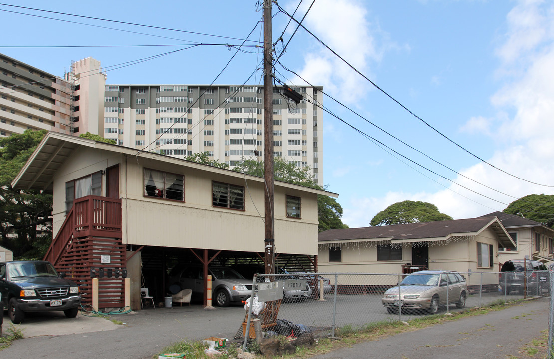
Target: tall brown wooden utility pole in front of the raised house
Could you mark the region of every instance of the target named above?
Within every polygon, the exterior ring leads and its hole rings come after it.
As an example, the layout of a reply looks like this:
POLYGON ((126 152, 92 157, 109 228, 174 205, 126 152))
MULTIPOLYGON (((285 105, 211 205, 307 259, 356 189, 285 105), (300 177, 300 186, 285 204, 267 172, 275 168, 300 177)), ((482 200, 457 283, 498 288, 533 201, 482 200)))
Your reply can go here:
POLYGON ((273 205, 273 43, 271 0, 264 0, 264 273, 275 273, 273 205))

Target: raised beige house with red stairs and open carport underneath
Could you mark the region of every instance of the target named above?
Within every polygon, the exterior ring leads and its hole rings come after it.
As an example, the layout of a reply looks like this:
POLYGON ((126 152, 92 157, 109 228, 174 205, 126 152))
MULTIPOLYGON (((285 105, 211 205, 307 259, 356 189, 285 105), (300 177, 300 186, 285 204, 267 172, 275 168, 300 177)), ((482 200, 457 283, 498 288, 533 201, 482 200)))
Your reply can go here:
MULTIPOLYGON (((84 289, 100 277, 100 308, 124 303, 122 277, 167 295, 177 263, 263 258, 264 180, 159 153, 50 132, 14 188, 53 193, 54 241, 45 259, 84 289)), ((317 265, 317 195, 338 195, 275 182, 275 253, 317 265)), ((206 301, 204 292, 204 301, 206 301)))

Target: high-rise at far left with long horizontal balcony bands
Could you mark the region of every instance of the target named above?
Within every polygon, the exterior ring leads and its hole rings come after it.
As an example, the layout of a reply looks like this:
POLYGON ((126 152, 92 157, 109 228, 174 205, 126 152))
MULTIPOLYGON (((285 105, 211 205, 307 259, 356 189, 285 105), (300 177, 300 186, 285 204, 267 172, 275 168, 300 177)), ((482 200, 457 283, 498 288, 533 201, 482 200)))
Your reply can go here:
POLYGON ((0 54, 0 137, 27 129, 70 133, 71 101, 69 82, 0 54))

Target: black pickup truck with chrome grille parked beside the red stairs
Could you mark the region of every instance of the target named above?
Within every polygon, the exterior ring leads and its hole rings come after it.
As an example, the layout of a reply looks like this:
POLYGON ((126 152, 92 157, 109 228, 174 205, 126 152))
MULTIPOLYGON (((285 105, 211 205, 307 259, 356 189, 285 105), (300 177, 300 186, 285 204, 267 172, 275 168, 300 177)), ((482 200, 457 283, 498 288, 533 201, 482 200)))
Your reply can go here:
POLYGON ((68 318, 79 313, 79 286, 64 278, 47 261, 0 263, 0 308, 8 308, 19 324, 25 312, 63 310, 68 318))

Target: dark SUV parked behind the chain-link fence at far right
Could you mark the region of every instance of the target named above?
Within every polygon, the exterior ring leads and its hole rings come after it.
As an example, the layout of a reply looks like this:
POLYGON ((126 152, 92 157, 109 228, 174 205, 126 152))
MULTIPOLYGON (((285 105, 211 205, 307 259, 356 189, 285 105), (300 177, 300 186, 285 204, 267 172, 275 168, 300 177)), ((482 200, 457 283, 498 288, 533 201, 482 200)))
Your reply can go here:
POLYGON ((525 285, 527 295, 541 296, 543 292, 550 290, 548 269, 545 264, 523 259, 512 259, 504 262, 500 269, 499 284, 506 293, 517 292, 524 294, 525 285))

